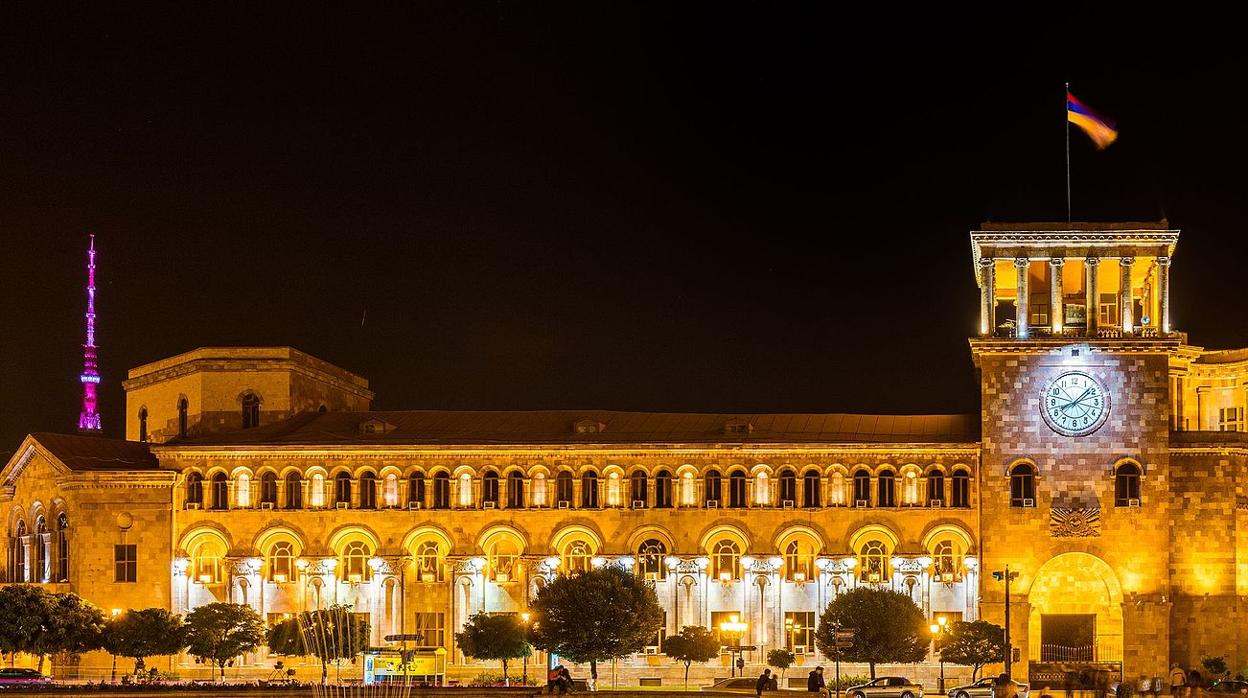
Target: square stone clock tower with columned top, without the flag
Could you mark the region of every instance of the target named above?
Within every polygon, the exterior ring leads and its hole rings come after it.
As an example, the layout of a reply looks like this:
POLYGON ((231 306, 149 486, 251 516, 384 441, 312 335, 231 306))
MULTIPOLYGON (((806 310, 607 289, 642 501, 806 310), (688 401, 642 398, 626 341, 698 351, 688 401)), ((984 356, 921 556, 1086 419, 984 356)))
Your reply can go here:
POLYGON ((1072 666, 1167 676, 1169 322, 1178 231, 985 224, 971 353, 981 378, 981 613, 1016 678, 1072 666))

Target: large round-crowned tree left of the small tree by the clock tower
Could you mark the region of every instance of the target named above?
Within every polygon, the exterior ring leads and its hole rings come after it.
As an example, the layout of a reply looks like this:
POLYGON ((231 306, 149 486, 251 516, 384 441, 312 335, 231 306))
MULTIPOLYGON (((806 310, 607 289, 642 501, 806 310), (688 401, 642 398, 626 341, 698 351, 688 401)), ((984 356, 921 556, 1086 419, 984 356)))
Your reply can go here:
POLYGON ((922 662, 927 656, 927 619, 904 593, 857 587, 836 597, 819 618, 815 644, 825 656, 836 652, 836 629, 852 631, 854 643, 841 658, 871 668, 881 663, 922 662))

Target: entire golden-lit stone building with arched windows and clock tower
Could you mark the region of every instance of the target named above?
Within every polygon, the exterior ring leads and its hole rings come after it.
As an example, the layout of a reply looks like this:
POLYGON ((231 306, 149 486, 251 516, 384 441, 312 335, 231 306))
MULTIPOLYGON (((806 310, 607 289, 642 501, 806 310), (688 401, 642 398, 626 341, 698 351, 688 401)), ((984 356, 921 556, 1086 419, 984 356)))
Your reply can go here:
MULTIPOLYGON (((374 644, 421 632, 470 676, 469 614, 595 566, 653 581, 665 633, 738 616, 755 666, 781 646, 826 663, 811 627, 862 584, 1001 623, 1008 566, 1016 676, 1243 667, 1248 350, 1171 327, 1178 231, 971 242, 980 415, 377 412, 302 352, 201 348, 130 372, 129 441, 26 438, 2 473, 7 579, 105 608, 349 603, 374 644)), ((674 681, 661 642, 624 682, 674 681)))

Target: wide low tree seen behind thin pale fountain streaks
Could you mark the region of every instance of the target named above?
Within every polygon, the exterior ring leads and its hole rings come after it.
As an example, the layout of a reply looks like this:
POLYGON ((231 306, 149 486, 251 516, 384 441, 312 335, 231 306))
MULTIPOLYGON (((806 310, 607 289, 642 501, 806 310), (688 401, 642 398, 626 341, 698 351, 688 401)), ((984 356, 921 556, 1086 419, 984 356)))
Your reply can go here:
POLYGON ((321 683, 329 677, 329 663, 337 668, 343 659, 354 661, 368 648, 368 621, 351 612, 349 606, 331 606, 305 611, 268 629, 265 637, 273 654, 316 657, 321 661, 321 683))

